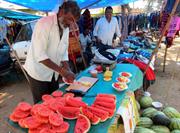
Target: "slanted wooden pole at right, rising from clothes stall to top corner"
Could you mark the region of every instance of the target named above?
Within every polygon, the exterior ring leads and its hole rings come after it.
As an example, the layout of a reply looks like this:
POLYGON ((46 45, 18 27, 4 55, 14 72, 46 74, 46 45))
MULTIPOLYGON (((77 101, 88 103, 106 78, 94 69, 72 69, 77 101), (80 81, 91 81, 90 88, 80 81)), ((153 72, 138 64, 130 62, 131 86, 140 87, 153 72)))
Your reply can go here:
POLYGON ((166 23, 166 25, 165 25, 165 28, 163 29, 162 34, 161 34, 161 36, 160 36, 160 39, 159 39, 159 41, 158 41, 158 43, 157 43, 157 45, 156 45, 156 48, 154 49, 154 51, 153 51, 153 53, 152 53, 152 55, 151 55, 151 57, 150 57, 150 59, 149 59, 149 62, 148 62, 148 64, 146 65, 146 69, 145 69, 145 71, 144 71, 144 75, 146 74, 147 69, 149 68, 149 65, 150 65, 150 63, 151 63, 151 61, 152 61, 153 56, 158 52, 158 48, 159 48, 159 46, 160 46, 160 44, 161 44, 162 38, 164 37, 164 35, 165 35, 165 33, 166 33, 166 30, 167 30, 167 29, 169 28, 169 26, 170 26, 171 17, 174 15, 178 4, 179 4, 179 0, 176 0, 176 2, 174 3, 173 9, 172 9, 172 11, 171 11, 171 14, 170 14, 170 16, 169 16, 169 18, 168 18, 168 21, 167 21, 167 23, 166 23))

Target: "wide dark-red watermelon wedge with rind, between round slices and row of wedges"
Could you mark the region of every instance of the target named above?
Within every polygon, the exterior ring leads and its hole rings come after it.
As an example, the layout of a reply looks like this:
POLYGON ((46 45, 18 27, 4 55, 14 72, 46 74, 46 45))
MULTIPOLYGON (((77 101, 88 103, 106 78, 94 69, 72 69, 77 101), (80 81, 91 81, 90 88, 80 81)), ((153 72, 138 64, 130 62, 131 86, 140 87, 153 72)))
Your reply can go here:
POLYGON ((77 119, 80 114, 80 108, 65 106, 58 110, 58 112, 62 114, 63 118, 73 120, 77 119))

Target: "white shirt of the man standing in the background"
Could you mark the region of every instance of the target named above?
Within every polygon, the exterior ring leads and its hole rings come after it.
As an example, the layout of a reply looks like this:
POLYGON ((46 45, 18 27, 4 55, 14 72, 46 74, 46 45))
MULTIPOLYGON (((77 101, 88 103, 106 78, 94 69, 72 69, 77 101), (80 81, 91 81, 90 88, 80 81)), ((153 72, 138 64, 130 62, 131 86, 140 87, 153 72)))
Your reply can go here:
POLYGON ((93 35, 101 39, 103 44, 112 45, 112 40, 114 34, 118 37, 121 36, 118 21, 115 17, 111 18, 110 23, 107 21, 106 17, 100 18, 93 31, 93 35))

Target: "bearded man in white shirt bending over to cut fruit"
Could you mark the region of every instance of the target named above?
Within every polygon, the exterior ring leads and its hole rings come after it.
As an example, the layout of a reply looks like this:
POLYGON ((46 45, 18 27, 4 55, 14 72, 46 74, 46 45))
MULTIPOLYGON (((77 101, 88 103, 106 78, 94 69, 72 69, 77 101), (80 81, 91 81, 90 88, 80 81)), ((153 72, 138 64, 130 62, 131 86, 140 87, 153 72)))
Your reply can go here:
POLYGON ((34 103, 42 95, 59 88, 58 77, 74 81, 68 65, 69 27, 80 17, 80 8, 74 1, 59 7, 57 15, 40 19, 35 25, 24 68, 30 80, 34 103))

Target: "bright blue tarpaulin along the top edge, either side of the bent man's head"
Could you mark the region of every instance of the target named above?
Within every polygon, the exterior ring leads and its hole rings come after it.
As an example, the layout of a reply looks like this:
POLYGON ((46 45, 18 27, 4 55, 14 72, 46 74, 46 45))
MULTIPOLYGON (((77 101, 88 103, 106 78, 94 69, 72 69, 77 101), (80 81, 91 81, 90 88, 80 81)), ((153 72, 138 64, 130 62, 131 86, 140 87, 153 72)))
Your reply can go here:
MULTIPOLYGON (((52 11, 63 0, 5 0, 21 6, 25 6, 34 10, 52 11)), ((76 0, 81 8, 90 6, 89 8, 106 7, 114 5, 123 5, 137 0, 76 0), (97 3, 93 5, 94 3, 97 3)))

